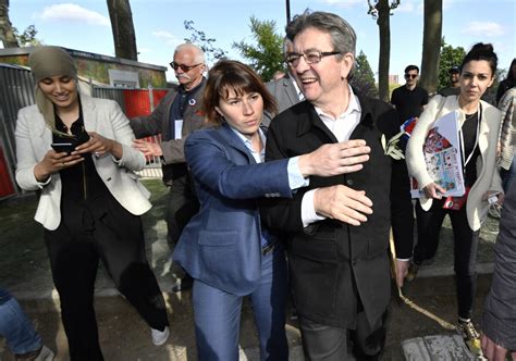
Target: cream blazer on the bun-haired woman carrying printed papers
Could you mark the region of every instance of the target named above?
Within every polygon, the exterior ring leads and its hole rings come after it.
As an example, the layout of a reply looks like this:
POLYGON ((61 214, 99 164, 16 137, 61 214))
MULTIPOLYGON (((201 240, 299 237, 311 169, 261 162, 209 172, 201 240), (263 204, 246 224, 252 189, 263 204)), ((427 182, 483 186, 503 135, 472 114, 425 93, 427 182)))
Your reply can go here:
MULTIPOLYGON (((496 169, 496 144, 501 123, 501 112, 491 104, 480 101, 482 104, 482 120, 478 136, 478 147, 480 157, 477 159, 477 180, 469 190, 466 202, 466 213, 468 224, 472 231, 480 229, 486 216, 488 215, 488 201, 484 194, 488 190, 503 192, 502 179, 496 169)), ((439 117, 458 110, 457 96, 443 98, 434 96, 419 117, 416 127, 410 135, 407 144, 407 166, 408 172, 416 177, 420 189, 433 182, 428 174, 422 146, 427 138, 428 130, 432 123, 439 117)), ((466 116, 459 112, 459 126, 463 126, 466 116)), ((421 208, 426 211, 432 206, 432 199, 422 197, 420 199, 421 208)))

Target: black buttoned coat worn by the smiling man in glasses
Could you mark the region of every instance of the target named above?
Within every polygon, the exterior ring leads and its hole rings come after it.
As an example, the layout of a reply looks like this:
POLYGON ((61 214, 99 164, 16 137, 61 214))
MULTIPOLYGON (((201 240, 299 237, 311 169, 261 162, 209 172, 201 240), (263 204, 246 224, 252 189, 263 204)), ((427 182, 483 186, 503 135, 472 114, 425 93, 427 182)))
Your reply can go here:
MULTIPOLYGON (((396 111, 389 104, 359 96, 360 123, 352 139, 365 139, 371 147, 370 160, 359 172, 310 177, 309 187, 293 199, 269 201, 262 221, 287 232, 291 285, 298 313, 314 322, 354 328, 359 302, 370 324, 383 314, 390 300, 389 232, 396 225, 400 258, 411 254, 411 228, 401 227, 411 217, 408 174, 404 161, 384 154, 386 140, 397 133, 396 111), (373 213, 360 226, 324 220, 303 228, 303 195, 312 188, 346 185, 365 190, 372 200, 373 213), (392 219, 391 219, 392 216, 392 219)), ((308 153, 323 144, 336 142, 314 107, 300 102, 278 115, 269 127, 268 161, 308 153)))

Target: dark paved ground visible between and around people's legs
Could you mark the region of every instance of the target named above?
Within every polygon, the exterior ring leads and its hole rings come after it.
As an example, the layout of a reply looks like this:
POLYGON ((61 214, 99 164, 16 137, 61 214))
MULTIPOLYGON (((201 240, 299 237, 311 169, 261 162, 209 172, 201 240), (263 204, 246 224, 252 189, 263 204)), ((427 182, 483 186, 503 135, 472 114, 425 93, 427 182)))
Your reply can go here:
MULTIPOLYGON (((111 281, 100 270, 97 279, 97 314, 100 341, 106 360, 196 360, 192 322, 191 294, 170 294, 175 279, 168 259, 165 224, 162 220, 165 190, 157 180, 146 182, 152 191, 153 209, 144 216, 148 258, 164 292, 172 325, 170 340, 162 347, 150 341, 149 329, 134 310, 118 296, 111 281)), ((64 333, 60 322, 59 302, 53 290, 42 231, 33 221, 36 199, 0 202, 0 284, 11 290, 34 320, 45 343, 57 350, 57 360, 67 360, 64 333)), ((497 223, 489 220, 482 228, 479 250, 479 292, 476 320, 482 308, 492 272, 492 246, 497 223)), ((393 298, 388 320, 388 339, 383 360, 402 360, 404 339, 435 334, 453 334, 456 302, 452 275, 452 240, 450 225, 442 233, 435 262, 420 272, 420 277, 404 289, 410 306, 393 298)), ((291 360, 303 360, 295 321, 288 321, 291 360)), ((256 331, 248 306, 245 307, 241 331, 242 360, 258 360, 256 331)), ((0 359, 12 360, 2 350, 0 359)))

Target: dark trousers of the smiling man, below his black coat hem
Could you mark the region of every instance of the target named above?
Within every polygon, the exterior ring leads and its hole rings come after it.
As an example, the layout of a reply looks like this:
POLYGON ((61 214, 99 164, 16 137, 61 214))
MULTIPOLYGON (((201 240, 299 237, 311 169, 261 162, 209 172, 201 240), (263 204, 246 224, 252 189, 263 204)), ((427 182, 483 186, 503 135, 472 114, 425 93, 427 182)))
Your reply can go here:
POLYGON ((356 360, 379 360, 385 343, 383 319, 371 327, 364 311, 357 314, 355 329, 340 328, 299 318, 303 351, 309 361, 342 361, 353 353, 356 360), (353 343, 353 348, 348 347, 353 343))

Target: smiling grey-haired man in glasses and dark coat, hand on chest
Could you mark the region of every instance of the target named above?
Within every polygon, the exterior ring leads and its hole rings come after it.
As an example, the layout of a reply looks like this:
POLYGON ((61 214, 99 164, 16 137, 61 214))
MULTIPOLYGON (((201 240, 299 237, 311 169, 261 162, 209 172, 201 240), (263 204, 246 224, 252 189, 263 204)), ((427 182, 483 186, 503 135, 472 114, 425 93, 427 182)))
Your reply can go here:
POLYGON ((371 152, 358 172, 312 176, 292 199, 269 200, 262 220, 287 233, 290 279, 307 359, 346 360, 349 335, 358 360, 376 360, 391 296, 391 226, 398 284, 411 254, 413 235, 403 226, 413 212, 406 165, 382 146, 398 132, 397 113, 348 85, 356 35, 343 18, 304 13, 286 32, 294 42, 287 62, 306 101, 272 121, 266 159, 348 139, 365 139, 371 152))

